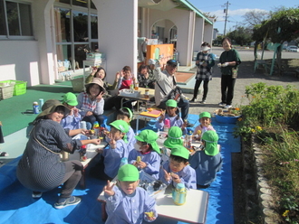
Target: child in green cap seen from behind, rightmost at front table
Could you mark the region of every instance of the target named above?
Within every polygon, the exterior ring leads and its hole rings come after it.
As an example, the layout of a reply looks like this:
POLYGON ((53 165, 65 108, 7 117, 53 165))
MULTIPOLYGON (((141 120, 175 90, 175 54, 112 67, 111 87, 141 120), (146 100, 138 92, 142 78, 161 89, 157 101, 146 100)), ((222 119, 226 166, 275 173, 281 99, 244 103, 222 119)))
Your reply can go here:
POLYGON ((207 188, 214 182, 216 173, 221 170, 222 158, 217 147, 218 135, 209 130, 202 136, 204 150, 197 151, 190 157, 190 166, 197 173, 198 188, 207 188))

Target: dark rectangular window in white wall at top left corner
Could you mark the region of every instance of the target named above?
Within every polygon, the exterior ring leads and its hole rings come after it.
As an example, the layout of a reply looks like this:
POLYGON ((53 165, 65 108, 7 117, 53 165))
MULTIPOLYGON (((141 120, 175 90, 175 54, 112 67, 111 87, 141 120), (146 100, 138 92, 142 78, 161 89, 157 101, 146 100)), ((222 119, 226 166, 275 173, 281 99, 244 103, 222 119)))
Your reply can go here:
POLYGON ((31 5, 0 1, 0 35, 6 39, 33 37, 31 5))

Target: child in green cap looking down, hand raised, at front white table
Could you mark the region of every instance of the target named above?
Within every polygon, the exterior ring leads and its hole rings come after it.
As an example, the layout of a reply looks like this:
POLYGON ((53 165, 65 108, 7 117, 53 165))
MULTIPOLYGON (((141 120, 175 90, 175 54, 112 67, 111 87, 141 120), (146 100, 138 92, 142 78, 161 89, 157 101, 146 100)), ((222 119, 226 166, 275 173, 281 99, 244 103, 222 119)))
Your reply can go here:
POLYGON ((175 145, 171 149, 169 162, 164 163, 159 172, 159 180, 167 184, 172 183, 177 187, 179 182, 185 184, 187 189, 197 189, 197 177, 195 170, 188 165, 189 152, 182 145, 175 145))

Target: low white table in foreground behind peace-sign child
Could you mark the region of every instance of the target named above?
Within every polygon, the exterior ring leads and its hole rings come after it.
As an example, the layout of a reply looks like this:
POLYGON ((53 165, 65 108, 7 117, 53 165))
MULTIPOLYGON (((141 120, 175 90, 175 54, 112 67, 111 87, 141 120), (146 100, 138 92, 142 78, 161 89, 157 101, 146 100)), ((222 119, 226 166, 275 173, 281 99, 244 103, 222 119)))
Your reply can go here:
MULTIPOLYGON (((159 216, 191 223, 205 223, 207 217, 208 192, 190 189, 187 191, 186 203, 176 205, 173 202, 171 193, 168 193, 168 191, 169 188, 166 194, 156 199, 156 209, 159 216)), ((101 201, 103 204, 106 202, 104 191, 101 191, 98 201, 101 201)), ((102 214, 105 214, 105 207, 102 206, 101 208, 102 214)))

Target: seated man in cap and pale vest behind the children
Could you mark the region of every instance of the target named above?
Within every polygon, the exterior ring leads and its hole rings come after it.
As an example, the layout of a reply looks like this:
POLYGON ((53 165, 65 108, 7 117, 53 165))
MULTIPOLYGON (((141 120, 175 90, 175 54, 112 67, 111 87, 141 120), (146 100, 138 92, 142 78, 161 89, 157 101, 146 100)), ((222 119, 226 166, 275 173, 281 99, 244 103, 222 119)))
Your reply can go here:
MULTIPOLYGON (((169 60, 166 66, 158 68, 154 71, 156 85, 155 85, 155 102, 156 106, 165 109, 166 101, 168 100, 169 92, 175 89, 177 81, 175 73, 177 71, 178 62, 175 60, 169 60)), ((178 101, 178 107, 181 108, 181 117, 183 120, 188 118, 189 102, 185 98, 180 98, 178 101)))

